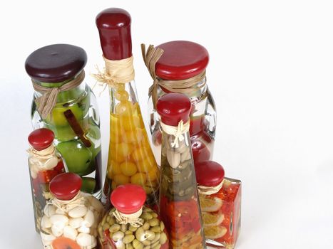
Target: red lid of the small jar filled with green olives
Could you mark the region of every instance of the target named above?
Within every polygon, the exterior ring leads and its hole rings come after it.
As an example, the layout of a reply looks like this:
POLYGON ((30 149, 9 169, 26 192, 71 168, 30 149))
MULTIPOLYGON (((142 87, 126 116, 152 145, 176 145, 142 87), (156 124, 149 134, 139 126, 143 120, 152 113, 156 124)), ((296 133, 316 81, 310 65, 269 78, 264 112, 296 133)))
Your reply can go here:
POLYGON ((121 213, 138 212, 145 203, 145 190, 140 185, 125 184, 118 186, 111 193, 111 203, 121 213))

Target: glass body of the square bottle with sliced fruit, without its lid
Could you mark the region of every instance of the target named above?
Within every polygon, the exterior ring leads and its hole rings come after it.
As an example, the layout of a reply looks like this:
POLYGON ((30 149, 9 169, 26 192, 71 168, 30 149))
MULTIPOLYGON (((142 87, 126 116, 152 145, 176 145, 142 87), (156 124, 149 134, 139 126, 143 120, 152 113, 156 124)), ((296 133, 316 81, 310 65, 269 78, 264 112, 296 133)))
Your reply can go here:
POLYGON ((200 194, 206 243, 217 248, 235 248, 240 234, 241 181, 225 178, 216 194, 200 194))

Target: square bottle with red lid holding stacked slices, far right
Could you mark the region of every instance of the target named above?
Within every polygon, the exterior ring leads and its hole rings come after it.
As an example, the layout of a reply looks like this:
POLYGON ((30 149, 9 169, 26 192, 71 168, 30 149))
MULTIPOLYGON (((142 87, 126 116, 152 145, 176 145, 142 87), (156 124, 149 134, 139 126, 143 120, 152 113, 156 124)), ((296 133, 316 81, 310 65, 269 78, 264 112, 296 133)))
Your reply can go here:
POLYGON ((206 243, 234 248, 240 233, 241 181, 225 177, 215 161, 195 164, 206 243))

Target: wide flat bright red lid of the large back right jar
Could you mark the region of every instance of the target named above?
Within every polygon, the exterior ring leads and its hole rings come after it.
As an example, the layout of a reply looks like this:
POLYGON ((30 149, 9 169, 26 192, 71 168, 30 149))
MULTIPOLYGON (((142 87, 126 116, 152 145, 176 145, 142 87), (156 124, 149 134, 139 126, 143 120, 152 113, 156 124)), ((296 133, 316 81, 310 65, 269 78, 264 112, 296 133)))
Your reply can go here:
POLYGON ((198 43, 169 41, 157 48, 162 48, 164 53, 155 65, 155 72, 163 80, 185 80, 207 68, 208 51, 198 43))

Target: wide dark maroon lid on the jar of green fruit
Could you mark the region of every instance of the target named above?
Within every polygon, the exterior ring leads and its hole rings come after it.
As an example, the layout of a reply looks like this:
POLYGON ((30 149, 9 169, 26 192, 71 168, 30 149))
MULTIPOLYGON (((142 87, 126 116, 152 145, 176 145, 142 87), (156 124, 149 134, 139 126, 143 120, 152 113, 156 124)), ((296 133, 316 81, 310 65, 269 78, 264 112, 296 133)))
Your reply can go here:
POLYGON ((43 83, 61 83, 74 78, 87 63, 83 48, 53 44, 39 48, 26 58, 26 73, 43 83))

